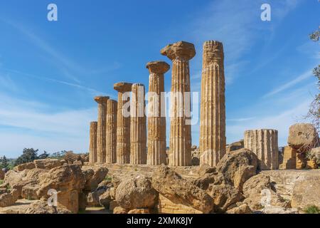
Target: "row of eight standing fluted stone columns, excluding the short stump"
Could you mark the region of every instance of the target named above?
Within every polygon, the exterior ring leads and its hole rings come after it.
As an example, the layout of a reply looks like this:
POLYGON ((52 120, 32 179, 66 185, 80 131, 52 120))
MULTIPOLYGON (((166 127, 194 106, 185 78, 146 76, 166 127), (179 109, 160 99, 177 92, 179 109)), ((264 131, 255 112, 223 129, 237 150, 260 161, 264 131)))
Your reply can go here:
MULTIPOLYGON (((161 54, 167 56, 173 66, 169 165, 188 166, 191 165, 189 61, 196 55, 196 50, 192 43, 179 41, 162 48, 161 54)), ((223 61, 222 43, 206 42, 203 46, 200 148, 201 163, 212 166, 216 165, 225 154, 223 61)), ((164 73, 169 71, 170 66, 164 61, 153 61, 147 63, 146 68, 149 70, 149 94, 151 94, 148 97, 148 130, 146 131, 144 115, 144 86, 131 83, 114 84, 114 90, 118 92, 118 102, 107 97, 95 98, 98 103, 98 121, 90 124, 90 162, 148 165, 166 163, 163 92, 164 73)))

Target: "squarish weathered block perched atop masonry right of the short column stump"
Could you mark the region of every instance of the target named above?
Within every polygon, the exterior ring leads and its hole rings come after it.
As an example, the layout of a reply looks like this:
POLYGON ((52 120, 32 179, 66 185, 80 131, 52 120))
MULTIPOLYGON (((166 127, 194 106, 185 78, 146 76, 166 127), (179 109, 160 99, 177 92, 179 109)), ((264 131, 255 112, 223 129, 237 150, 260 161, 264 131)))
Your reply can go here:
POLYGON ((311 148, 319 146, 319 135, 314 125, 297 123, 289 128, 288 145, 299 152, 309 152, 311 148))

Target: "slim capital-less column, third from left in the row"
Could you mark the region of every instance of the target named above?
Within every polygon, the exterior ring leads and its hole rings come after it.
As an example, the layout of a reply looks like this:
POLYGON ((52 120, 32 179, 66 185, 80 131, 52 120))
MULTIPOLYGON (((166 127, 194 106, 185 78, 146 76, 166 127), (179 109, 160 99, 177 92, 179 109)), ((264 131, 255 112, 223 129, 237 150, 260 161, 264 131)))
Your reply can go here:
POLYGON ((107 101, 107 145, 106 162, 117 162, 117 101, 107 101))

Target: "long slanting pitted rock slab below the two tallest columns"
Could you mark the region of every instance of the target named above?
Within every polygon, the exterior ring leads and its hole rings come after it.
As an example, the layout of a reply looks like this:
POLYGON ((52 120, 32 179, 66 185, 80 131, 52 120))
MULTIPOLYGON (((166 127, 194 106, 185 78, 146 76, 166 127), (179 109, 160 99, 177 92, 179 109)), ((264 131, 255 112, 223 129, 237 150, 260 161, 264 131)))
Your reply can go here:
POLYGON ((214 204, 210 195, 183 179, 166 165, 161 165, 154 170, 152 187, 176 204, 184 204, 203 213, 213 210, 214 204))

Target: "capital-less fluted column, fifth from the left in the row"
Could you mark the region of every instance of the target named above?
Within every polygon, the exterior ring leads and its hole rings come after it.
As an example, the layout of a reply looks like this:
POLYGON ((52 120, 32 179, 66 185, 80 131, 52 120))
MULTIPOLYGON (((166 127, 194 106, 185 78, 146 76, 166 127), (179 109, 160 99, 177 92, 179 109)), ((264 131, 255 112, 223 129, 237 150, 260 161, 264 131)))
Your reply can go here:
POLYGON ((144 115, 144 85, 132 85, 130 105, 130 164, 146 164, 146 115, 144 115))

